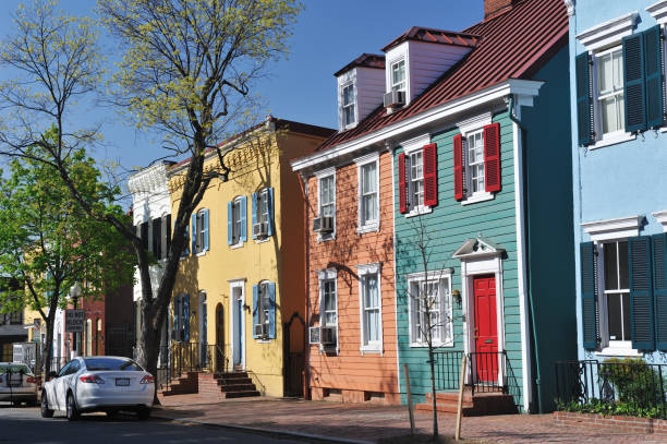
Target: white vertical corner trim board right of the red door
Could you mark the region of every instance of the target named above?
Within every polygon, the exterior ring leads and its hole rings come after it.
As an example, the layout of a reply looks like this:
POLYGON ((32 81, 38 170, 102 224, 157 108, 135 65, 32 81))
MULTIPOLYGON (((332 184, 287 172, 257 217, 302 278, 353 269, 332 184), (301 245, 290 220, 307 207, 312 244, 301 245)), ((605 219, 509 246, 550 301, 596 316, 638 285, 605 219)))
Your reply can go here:
MULTIPOLYGON (((510 109, 510 112, 512 110, 510 109)), ((525 267, 525 217, 523 214, 523 155, 521 147, 521 128, 517 122, 512 122, 512 141, 513 141, 513 157, 514 157, 514 218, 517 229, 517 274, 519 280, 519 317, 521 320, 521 376, 523 379, 523 409, 524 411, 530 410, 530 405, 533 400, 532 387, 532 371, 531 371, 531 350, 530 350, 530 335, 529 335, 529 319, 527 319, 527 304, 529 295, 525 289, 527 288, 527 272, 525 267)), ((502 286, 500 286, 502 289, 502 286)), ((502 299, 501 299, 502 300, 502 299)), ((502 305, 502 304, 500 304, 502 305)), ((499 347, 499 346, 498 346, 499 347)), ((505 344, 504 344, 505 347, 505 344)))

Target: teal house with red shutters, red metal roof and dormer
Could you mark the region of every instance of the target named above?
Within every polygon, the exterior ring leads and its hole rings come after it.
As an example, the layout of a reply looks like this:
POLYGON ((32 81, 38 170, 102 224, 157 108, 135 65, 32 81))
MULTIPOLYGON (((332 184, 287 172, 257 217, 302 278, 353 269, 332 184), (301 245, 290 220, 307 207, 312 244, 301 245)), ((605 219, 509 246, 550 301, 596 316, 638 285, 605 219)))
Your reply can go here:
POLYGON ((465 358, 469 411, 550 411, 554 364, 577 359, 566 5, 487 0, 383 51, 384 106, 327 144, 393 158, 402 401, 405 368, 429 399, 430 343, 444 410, 465 358))

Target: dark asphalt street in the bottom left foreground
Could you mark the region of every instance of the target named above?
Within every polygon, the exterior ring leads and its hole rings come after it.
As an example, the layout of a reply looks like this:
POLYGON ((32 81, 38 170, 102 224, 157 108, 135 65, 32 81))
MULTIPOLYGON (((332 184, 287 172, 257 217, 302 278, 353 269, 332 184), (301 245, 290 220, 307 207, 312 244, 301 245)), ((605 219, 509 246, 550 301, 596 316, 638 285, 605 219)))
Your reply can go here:
POLYGON ((149 444, 149 443, 243 443, 303 444, 263 434, 244 433, 225 428, 180 424, 160 419, 140 421, 134 416, 84 415, 69 422, 62 412, 44 419, 37 407, 12 408, 0 403, 0 444, 149 444))

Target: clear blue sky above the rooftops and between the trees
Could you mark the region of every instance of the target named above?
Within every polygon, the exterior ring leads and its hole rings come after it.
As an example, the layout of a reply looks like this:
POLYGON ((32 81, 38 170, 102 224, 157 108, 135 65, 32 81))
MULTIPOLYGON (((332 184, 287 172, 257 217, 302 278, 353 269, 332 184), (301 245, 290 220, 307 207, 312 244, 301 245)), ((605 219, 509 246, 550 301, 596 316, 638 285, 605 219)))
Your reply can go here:
MULTIPOLYGON (((29 2, 29 0, 26 0, 29 2)), ((483 16, 483 0, 303 0, 290 39, 288 60, 270 67, 270 75, 257 84, 271 115, 335 128, 336 79, 333 73, 363 52, 381 53, 380 48, 411 26, 460 31, 483 16)), ((11 11, 19 0, 2 0, 0 34, 13 29, 11 11)), ((93 0, 61 0, 62 9, 90 14, 93 0)), ((104 40, 109 51, 112 43, 104 40)), ((109 58, 116 56, 109 53, 109 58)), ((0 76, 7 76, 0 71, 0 76)), ((75 113, 85 124, 101 123, 105 142, 95 157, 118 161, 124 168, 144 167, 165 155, 159 136, 137 132, 110 108, 85 105, 75 113)))

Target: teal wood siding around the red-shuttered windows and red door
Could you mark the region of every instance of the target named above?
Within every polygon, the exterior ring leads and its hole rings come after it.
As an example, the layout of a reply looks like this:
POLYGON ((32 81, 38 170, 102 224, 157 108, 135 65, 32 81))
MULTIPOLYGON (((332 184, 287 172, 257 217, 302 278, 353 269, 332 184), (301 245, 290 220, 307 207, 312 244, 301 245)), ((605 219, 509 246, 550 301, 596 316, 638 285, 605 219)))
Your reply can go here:
MULTIPOLYGON (((453 136, 459 133, 457 128, 447 129, 432 135, 432 142, 437 144, 438 160, 438 205, 430 214, 416 217, 405 217, 399 213, 396 199, 396 264, 397 264, 397 309, 398 309, 398 347, 399 369, 403 372, 403 363, 408 363, 412 393, 415 401, 424 401, 424 395, 430 392, 430 371, 427 364, 428 349, 410 346, 410 297, 408 296, 407 276, 421 273, 424 266, 420 256, 416 238, 423 225, 428 240, 428 269, 439 271, 453 268, 452 289, 461 290, 461 263, 451 257, 461 244, 471 238, 483 236, 506 250, 502 261, 502 291, 505 310, 505 348, 507 350, 511 372, 516 384, 521 387, 521 325, 519 314, 519 291, 517 272, 517 221, 514 207, 513 179, 513 141, 512 122, 507 112, 496 115, 494 122, 500 124, 500 156, 502 189, 492 201, 470 205, 461 205, 453 195, 453 136), (420 220, 423 224, 420 224, 420 220)), ((398 155, 395 156, 395 178, 398 178, 398 155)), ((398 193, 398 181, 395 183, 398 193)), ((398 194, 397 194, 398 195, 398 194)), ((463 325, 461 308, 453 305, 453 347, 442 347, 439 350, 463 350, 463 325)), ((401 394, 405 394, 404 375, 400 375, 401 394)), ((402 401, 405 403, 404 395, 402 401)), ((523 403, 521 396, 516 399, 523 403)))

